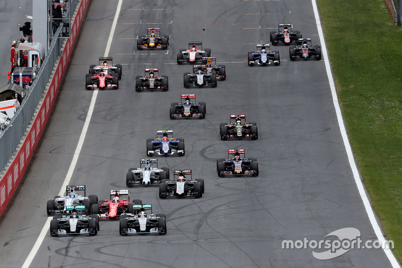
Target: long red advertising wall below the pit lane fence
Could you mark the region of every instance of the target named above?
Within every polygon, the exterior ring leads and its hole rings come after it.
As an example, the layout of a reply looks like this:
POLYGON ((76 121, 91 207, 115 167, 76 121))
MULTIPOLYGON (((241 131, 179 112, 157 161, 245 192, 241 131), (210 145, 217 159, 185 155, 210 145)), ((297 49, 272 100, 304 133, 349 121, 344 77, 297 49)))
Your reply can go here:
POLYGON ((3 214, 6 206, 11 200, 11 197, 14 195, 22 176, 27 169, 27 165, 31 160, 40 136, 43 133, 43 129, 52 110, 61 79, 66 70, 88 4, 89 0, 81 0, 79 3, 76 16, 71 24, 70 38, 66 39, 63 46, 63 53, 56 64, 55 71, 52 74, 51 82, 48 84, 44 99, 38 105, 38 112, 28 130, 28 133, 23 137, 20 147, 17 148, 15 158, 4 175, 0 177, 0 215, 3 214))

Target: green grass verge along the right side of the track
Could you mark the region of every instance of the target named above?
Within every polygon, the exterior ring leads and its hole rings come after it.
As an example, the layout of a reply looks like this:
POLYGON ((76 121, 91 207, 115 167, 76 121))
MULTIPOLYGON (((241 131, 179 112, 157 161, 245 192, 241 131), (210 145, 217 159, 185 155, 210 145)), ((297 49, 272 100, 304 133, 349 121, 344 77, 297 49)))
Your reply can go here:
MULTIPOLYGON (((318 0, 364 184, 402 261, 402 39, 383 0, 318 0)), ((351 226, 356 227, 358 226, 351 226)))

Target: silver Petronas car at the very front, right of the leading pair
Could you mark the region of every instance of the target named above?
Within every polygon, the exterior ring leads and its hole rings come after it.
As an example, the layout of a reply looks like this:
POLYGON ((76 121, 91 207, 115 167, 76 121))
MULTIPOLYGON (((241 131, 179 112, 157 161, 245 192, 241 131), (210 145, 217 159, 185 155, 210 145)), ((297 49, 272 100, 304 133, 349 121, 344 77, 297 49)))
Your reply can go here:
POLYGON ((166 234, 166 216, 164 213, 153 214, 152 205, 134 205, 138 214, 123 214, 120 217, 120 234, 166 234), (145 211, 151 210, 150 214, 145 211))

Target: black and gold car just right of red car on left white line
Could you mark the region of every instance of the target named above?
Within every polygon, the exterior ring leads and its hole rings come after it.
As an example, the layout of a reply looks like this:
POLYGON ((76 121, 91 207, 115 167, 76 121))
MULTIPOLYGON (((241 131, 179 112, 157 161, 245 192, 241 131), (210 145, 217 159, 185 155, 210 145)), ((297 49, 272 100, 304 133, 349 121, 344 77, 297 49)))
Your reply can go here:
POLYGON ((159 76, 159 69, 147 68, 145 75, 137 75, 135 77, 135 90, 140 92, 143 90, 169 90, 169 82, 167 75, 159 76))

